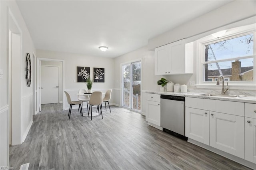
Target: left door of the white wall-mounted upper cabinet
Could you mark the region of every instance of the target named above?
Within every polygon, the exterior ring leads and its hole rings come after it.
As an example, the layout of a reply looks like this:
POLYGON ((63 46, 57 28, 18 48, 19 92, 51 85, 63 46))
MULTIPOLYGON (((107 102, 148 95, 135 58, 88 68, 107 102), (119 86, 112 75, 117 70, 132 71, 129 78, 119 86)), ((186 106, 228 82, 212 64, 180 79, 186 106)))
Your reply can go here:
POLYGON ((168 73, 168 45, 155 49, 155 75, 168 73))

